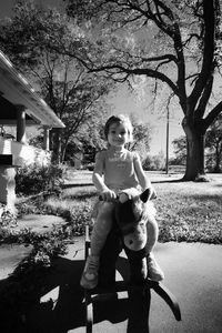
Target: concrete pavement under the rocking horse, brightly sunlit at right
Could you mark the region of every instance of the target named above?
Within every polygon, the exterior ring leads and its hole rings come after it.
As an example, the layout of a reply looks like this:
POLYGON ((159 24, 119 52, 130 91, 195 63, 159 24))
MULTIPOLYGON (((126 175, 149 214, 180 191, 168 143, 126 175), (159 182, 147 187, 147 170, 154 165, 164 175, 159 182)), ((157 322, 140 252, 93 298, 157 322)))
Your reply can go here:
MULTIPOLYGON (((155 256, 165 272, 164 285, 179 301, 182 321, 176 322, 170 307, 152 291, 150 333, 221 333, 222 246, 170 242, 158 244, 155 256)), ((83 291, 79 286, 83 268, 82 238, 69 246, 69 254, 60 258, 56 268, 49 293, 41 299, 42 309, 50 299, 53 306, 30 314, 28 320, 33 330, 30 332, 85 332, 83 291)), ((114 303, 103 300, 94 304, 93 332, 148 333, 148 330, 137 330, 139 322, 134 329, 129 327, 127 293, 120 294, 114 303)), ((140 315, 141 309, 135 311, 140 315)))

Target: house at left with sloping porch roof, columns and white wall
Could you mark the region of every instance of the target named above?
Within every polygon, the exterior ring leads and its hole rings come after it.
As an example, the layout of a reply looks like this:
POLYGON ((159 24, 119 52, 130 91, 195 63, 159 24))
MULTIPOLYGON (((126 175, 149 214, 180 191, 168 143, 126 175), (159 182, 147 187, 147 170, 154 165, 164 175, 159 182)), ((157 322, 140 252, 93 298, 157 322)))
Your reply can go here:
POLYGON ((47 163, 50 155, 49 131, 64 128, 62 121, 34 92, 30 83, 0 51, 0 127, 14 127, 16 138, 0 133, 0 202, 14 209, 17 168, 34 161, 47 163), (27 144, 26 128, 44 128, 44 150, 27 144))

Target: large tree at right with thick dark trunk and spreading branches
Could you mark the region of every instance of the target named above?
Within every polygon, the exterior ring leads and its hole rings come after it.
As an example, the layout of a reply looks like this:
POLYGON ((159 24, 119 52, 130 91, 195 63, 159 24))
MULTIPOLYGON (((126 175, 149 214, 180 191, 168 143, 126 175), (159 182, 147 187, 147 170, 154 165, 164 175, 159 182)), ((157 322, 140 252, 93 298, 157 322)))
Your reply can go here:
POLYGON ((183 179, 204 175, 205 132, 222 111, 222 101, 213 99, 221 80, 219 0, 64 1, 84 31, 82 48, 69 52, 84 54, 89 71, 120 82, 144 75, 153 80, 154 92, 167 84, 184 115, 183 179))

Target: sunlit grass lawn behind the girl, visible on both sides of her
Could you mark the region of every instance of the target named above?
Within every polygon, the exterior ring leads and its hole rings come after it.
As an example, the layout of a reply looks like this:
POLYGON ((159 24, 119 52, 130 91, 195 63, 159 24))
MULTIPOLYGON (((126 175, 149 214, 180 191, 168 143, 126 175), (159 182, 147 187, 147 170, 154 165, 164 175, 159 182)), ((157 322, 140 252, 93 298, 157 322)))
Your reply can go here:
MULTIPOLYGON (((148 172, 148 175, 158 192, 154 203, 160 242, 222 244, 222 174, 210 174, 211 182, 179 182, 181 174, 148 172)), ((53 208, 71 211, 71 220, 78 224, 80 234, 97 200, 90 182, 90 172, 74 172, 67 180, 62 200, 50 199, 47 203, 52 213, 53 208)))

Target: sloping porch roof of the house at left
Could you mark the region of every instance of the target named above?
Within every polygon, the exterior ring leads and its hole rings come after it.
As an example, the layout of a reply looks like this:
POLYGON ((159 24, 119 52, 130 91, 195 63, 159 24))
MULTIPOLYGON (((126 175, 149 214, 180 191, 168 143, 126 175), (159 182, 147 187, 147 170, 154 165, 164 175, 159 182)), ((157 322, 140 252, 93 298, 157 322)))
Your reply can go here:
POLYGON ((64 128, 63 122, 0 51, 0 124, 16 125, 18 108, 26 108, 26 124, 64 128))

